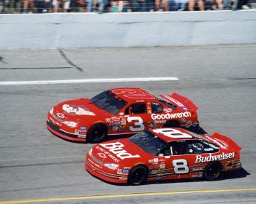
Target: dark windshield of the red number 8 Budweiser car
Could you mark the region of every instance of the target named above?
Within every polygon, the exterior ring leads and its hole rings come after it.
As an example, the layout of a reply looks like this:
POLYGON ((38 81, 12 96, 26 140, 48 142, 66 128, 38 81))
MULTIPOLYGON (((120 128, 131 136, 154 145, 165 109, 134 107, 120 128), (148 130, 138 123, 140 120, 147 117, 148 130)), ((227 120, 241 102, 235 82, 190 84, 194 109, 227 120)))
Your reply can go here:
POLYGON ((129 138, 129 141, 136 144, 145 152, 157 156, 166 149, 167 143, 149 131, 138 133, 129 138))

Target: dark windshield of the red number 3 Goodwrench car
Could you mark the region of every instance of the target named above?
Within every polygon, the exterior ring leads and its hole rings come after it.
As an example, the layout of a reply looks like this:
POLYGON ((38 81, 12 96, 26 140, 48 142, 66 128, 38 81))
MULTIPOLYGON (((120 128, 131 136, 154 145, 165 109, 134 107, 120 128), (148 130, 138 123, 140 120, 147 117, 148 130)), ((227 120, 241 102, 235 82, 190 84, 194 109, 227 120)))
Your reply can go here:
POLYGON ((108 111, 110 114, 117 114, 118 111, 127 105, 127 102, 121 98, 116 98, 116 95, 109 90, 99 93, 91 98, 91 103, 99 106, 99 108, 108 111))

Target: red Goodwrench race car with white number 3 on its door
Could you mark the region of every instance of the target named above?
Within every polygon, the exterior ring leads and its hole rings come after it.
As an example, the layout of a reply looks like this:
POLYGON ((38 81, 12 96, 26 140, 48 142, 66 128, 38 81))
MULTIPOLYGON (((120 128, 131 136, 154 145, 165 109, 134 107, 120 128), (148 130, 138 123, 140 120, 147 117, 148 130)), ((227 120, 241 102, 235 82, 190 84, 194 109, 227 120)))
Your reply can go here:
POLYGON ((72 141, 103 141, 156 127, 195 127, 197 106, 184 96, 114 88, 91 99, 64 101, 48 112, 50 132, 72 141))

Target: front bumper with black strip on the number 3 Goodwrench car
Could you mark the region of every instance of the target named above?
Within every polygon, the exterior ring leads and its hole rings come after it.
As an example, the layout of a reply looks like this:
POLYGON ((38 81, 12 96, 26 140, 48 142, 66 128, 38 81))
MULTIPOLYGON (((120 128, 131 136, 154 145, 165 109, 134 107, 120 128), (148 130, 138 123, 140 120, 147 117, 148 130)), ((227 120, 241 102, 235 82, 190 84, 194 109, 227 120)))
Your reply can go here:
POLYGON ((86 141, 86 138, 78 138, 78 136, 75 134, 64 132, 57 125, 54 125, 49 120, 46 121, 46 126, 47 126, 48 130, 50 130, 51 133, 53 133, 54 135, 59 136, 61 138, 65 138, 69 141, 86 141))

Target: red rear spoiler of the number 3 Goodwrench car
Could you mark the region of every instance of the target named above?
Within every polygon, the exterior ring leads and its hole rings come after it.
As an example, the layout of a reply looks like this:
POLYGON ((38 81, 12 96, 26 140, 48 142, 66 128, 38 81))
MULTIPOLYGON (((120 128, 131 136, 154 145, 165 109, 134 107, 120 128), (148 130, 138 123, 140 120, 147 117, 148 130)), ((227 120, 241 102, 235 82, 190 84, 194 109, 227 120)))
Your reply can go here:
POLYGON ((165 98, 167 101, 175 103, 176 106, 188 107, 192 111, 197 111, 198 108, 195 106, 195 103, 189 100, 189 98, 184 97, 183 95, 179 95, 178 93, 172 93, 170 95, 160 95, 165 98))

